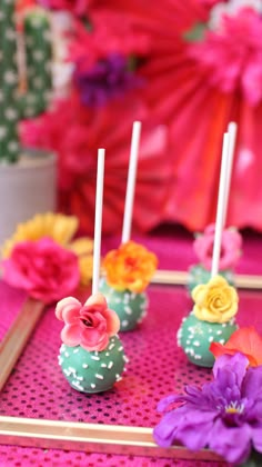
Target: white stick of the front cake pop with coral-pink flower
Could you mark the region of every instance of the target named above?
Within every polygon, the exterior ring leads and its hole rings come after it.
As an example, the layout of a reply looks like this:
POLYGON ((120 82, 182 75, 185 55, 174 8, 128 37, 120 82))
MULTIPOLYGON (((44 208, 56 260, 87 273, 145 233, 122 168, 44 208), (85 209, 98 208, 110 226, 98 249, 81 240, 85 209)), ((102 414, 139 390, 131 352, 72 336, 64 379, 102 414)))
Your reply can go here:
POLYGON ((93 280, 92 280, 92 294, 93 295, 98 294, 99 277, 100 277, 104 152, 105 152, 104 149, 99 149, 98 150, 94 241, 93 241, 93 280))

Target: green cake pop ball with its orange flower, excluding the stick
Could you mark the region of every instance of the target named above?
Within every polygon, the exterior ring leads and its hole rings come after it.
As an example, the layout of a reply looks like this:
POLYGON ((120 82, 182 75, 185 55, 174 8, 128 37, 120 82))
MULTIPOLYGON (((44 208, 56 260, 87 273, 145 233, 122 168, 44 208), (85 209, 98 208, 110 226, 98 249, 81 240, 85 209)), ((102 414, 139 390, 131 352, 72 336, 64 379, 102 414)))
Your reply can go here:
POLYGON ((120 319, 120 330, 132 330, 148 309, 145 289, 158 266, 157 256, 132 240, 107 254, 103 261, 105 278, 100 290, 120 319))

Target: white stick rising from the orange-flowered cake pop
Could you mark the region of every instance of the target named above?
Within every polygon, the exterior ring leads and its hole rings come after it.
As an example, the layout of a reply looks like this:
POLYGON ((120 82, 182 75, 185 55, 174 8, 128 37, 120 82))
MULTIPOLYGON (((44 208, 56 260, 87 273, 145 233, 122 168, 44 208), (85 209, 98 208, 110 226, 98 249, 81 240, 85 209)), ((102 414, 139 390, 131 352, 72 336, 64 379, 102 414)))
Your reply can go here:
POLYGON ((137 178, 140 133, 141 133, 141 121, 134 121, 133 131, 132 131, 132 140, 131 140, 128 185, 127 185, 127 192, 125 192, 122 244, 127 244, 127 241, 130 240, 130 236, 131 236, 131 223, 132 223, 132 215, 133 215, 133 199, 134 199, 134 187, 135 187, 135 178, 137 178))

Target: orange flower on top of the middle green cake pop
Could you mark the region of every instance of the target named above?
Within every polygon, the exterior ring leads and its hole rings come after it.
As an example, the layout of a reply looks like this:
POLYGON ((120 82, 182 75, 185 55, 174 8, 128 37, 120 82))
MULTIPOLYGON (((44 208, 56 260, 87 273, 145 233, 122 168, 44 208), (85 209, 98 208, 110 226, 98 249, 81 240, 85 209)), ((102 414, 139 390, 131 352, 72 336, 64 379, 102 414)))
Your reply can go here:
POLYGON ((157 256, 134 241, 128 241, 108 252, 103 261, 108 284, 120 291, 128 289, 142 292, 157 266, 157 256))

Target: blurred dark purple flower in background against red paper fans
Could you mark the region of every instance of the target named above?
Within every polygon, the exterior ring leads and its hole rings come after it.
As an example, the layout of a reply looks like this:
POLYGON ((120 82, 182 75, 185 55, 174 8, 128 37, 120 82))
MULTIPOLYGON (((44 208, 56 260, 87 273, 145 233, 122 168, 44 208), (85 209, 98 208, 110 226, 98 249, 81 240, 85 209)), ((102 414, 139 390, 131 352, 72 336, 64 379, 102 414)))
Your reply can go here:
POLYGON ((137 88, 142 80, 128 69, 128 60, 111 53, 89 71, 75 70, 74 82, 85 106, 100 107, 108 100, 137 88))

